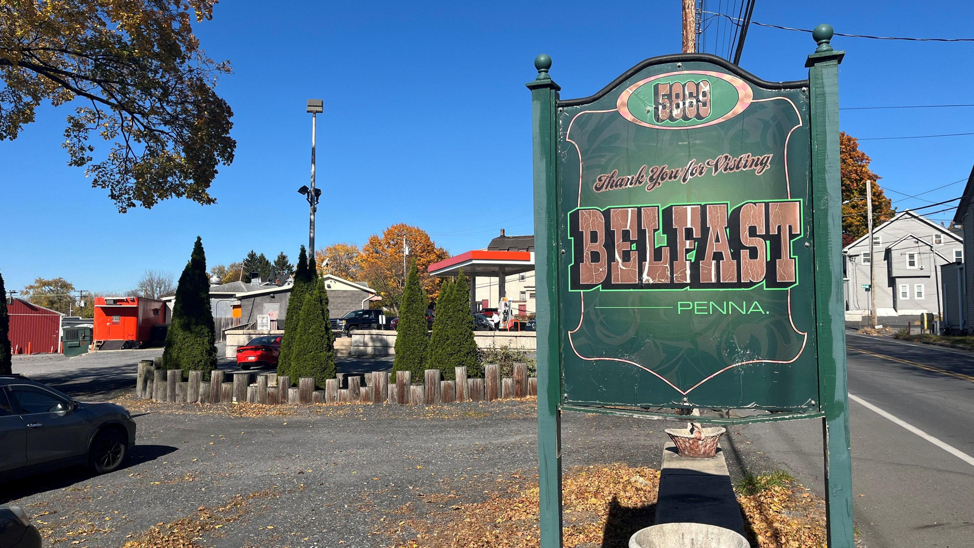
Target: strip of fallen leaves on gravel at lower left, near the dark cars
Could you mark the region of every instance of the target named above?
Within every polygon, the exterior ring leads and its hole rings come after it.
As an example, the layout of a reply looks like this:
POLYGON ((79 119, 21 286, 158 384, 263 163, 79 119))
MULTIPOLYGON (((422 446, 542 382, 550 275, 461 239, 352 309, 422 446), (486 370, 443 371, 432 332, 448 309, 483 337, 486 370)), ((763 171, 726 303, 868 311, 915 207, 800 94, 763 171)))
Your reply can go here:
POLYGON ((277 494, 263 490, 245 496, 237 495, 218 508, 209 509, 201 506, 193 516, 169 524, 160 523, 156 527, 132 535, 134 538, 127 541, 123 548, 200 548, 208 544, 199 542, 203 540, 206 532, 240 520, 247 512, 246 504, 249 500, 269 496, 277 496, 277 494))

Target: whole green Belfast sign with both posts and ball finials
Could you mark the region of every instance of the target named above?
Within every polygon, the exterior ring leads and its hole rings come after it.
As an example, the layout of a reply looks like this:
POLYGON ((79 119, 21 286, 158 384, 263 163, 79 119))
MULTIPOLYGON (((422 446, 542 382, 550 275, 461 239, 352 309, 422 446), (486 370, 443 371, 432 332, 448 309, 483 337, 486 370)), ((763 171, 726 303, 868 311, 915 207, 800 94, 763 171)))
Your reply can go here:
POLYGON ((560 412, 822 418, 829 545, 852 546, 832 29, 809 79, 705 54, 532 93, 543 548, 560 548, 560 412), (754 411, 767 411, 754 413, 754 411))

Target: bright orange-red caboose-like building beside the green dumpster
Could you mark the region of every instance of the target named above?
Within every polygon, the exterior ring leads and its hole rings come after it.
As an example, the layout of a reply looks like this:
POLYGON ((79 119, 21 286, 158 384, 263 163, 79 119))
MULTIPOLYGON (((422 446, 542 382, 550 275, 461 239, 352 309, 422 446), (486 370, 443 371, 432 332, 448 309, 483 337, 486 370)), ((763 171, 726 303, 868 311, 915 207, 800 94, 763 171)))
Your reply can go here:
POLYGON ((94 347, 106 340, 149 341, 152 326, 166 323, 166 304, 141 296, 94 297, 94 347))

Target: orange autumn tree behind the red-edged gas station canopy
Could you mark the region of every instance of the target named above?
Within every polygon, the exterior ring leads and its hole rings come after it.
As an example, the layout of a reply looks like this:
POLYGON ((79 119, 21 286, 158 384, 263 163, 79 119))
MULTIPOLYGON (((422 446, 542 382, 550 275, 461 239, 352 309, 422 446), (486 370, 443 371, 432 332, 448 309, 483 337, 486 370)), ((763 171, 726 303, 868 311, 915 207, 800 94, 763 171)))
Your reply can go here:
POLYGON ((446 250, 432 242, 426 230, 403 222, 393 224, 383 231, 382 236, 373 234, 369 237, 359 256, 361 278, 382 295, 382 305, 392 308, 396 313, 405 285, 405 272, 402 269, 403 239, 409 244, 407 259, 416 259, 420 285, 431 299, 439 295, 439 279, 430 276, 427 268, 450 256, 446 250))

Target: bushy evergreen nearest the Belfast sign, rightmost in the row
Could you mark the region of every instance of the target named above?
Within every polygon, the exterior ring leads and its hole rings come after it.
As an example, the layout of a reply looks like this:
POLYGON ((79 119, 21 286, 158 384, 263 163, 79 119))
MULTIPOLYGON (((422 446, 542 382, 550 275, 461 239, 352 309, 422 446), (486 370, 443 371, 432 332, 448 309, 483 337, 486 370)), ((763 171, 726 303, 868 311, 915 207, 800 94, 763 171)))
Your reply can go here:
POLYGON ((455 368, 459 367, 466 367, 469 376, 481 376, 469 291, 467 276, 461 270, 456 282, 441 286, 436 300, 427 366, 439 369, 446 380, 456 378, 455 368))

